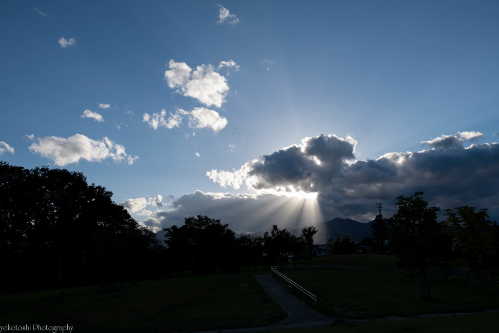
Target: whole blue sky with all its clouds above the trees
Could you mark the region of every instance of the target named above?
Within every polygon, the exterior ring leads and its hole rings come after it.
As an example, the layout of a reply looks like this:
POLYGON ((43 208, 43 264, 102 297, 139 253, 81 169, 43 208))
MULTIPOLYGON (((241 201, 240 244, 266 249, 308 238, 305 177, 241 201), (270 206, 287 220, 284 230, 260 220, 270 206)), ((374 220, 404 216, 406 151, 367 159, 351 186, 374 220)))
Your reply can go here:
MULTIPOLYGON (((0 160, 151 230, 499 220, 498 1, 0 1, 0 160), (441 218, 443 218, 441 216, 441 218)), ((26 198, 29 200, 29 198, 26 198)))

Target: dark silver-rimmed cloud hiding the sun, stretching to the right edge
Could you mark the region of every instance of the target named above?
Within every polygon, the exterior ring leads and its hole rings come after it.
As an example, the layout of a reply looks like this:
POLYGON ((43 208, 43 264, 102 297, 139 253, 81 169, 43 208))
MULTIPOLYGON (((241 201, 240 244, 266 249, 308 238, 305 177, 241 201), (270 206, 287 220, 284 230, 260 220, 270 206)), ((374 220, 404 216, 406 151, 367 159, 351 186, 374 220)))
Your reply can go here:
POLYGON ((397 196, 417 191, 425 193, 430 205, 488 208, 491 218, 498 219, 499 144, 465 145, 482 136, 458 132, 422 142, 430 149, 352 161, 355 140, 319 135, 248 162, 240 170, 212 170, 207 175, 223 186, 246 184, 257 193, 317 192, 326 219, 367 222, 377 214, 378 201, 385 203, 383 214, 391 216, 397 196))

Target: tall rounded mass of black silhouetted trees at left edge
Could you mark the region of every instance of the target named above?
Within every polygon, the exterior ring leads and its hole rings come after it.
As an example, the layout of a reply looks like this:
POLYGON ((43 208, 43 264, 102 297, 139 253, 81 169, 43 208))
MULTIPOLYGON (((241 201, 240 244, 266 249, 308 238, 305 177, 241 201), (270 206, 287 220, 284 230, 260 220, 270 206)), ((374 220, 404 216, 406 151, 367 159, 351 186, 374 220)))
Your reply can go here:
POLYGON ((111 197, 79 172, 0 162, 0 258, 12 268, 3 286, 58 287, 59 261, 65 285, 129 276, 126 250, 141 231, 111 197))

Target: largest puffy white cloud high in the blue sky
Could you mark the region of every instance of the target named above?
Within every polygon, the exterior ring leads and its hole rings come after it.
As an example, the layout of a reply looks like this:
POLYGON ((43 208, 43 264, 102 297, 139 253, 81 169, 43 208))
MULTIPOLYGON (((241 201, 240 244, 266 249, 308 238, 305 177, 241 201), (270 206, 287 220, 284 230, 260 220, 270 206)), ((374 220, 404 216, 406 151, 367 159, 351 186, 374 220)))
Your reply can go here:
MULTIPOLYGON (((178 93, 198 99, 201 103, 221 107, 229 91, 227 79, 215 71, 213 65, 200 65, 192 71, 185 62, 169 62, 169 70, 165 71, 168 86, 177 89, 178 93)), ((240 66, 233 60, 222 61, 221 67, 239 70, 240 66)))

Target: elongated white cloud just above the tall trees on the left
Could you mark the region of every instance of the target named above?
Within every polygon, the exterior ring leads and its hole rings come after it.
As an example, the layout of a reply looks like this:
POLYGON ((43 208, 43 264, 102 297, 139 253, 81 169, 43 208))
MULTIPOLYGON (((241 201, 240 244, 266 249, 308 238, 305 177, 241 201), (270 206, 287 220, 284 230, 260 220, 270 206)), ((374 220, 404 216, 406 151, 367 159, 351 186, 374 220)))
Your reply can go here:
POLYGON ((138 158, 127 155, 124 146, 114 143, 107 137, 102 140, 92 140, 84 135, 75 134, 68 138, 48 136, 37 140, 37 143, 29 146, 29 150, 51 159, 58 166, 78 163, 80 159, 101 162, 108 158, 115 162, 124 160, 131 165, 138 158))

